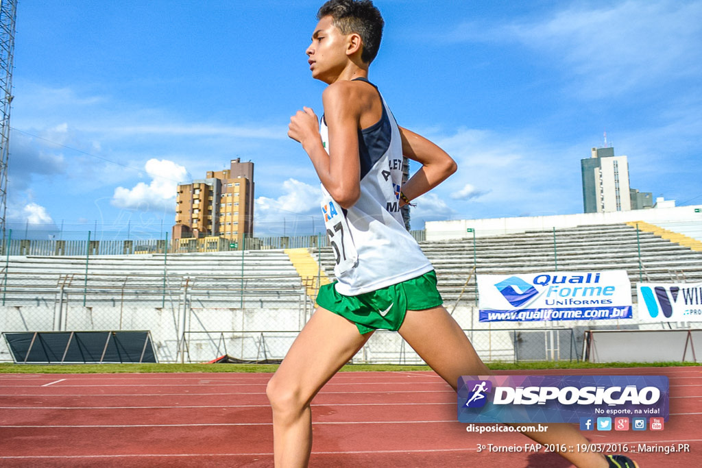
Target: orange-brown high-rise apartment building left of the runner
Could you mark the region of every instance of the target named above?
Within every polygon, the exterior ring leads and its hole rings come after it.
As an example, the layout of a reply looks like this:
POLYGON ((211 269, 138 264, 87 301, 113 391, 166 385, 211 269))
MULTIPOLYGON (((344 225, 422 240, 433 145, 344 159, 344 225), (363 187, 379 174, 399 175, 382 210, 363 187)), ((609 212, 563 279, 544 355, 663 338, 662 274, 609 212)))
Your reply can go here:
POLYGON ((232 159, 224 171, 179 184, 173 239, 220 236, 241 242, 253 234, 253 163, 232 159))

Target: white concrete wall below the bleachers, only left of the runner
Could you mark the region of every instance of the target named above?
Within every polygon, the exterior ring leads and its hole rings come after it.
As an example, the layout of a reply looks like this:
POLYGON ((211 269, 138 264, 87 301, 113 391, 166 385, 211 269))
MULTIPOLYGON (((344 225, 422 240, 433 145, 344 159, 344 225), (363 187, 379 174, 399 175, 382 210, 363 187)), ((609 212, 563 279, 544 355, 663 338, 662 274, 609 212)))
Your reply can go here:
MULTIPOLYGON (((237 358, 263 359, 260 332, 265 330, 270 330, 264 333, 265 354, 269 358, 282 358, 308 318, 309 311, 304 308, 193 307, 185 315, 189 351, 185 360, 210 361, 218 357, 217 352, 225 354, 225 349, 237 358)), ((178 340, 182 336, 183 319, 183 307, 69 306, 64 307, 60 316, 53 305, 0 307, 2 332, 149 330, 159 361, 176 361, 176 358, 180 361, 178 340)), ((6 340, 1 340, 0 361, 11 360, 6 340)))

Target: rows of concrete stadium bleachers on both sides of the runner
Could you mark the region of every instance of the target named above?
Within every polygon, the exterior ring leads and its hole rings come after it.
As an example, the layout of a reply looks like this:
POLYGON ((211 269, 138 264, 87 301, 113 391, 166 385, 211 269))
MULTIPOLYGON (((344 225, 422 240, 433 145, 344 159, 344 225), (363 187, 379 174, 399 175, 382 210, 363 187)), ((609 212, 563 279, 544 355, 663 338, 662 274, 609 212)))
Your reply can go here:
MULTIPOLYGON (((422 241, 432 261, 439 290, 448 304, 459 296, 475 303, 472 237, 422 241)), ((317 249, 314 259, 317 258, 317 249)), ((322 267, 333 272, 331 247, 322 248, 322 267)), ((478 237, 478 274, 625 269, 637 281, 702 281, 702 253, 625 224, 478 237)), ((282 249, 212 253, 9 257, 3 281, 6 304, 53 298, 63 288, 93 301, 138 300, 158 304, 184 288, 206 307, 238 300, 251 307, 291 307, 304 295, 300 277, 282 249), (242 271, 243 261, 243 271, 242 271), (165 275, 164 275, 165 271, 165 275), (166 281, 164 281, 164 276, 166 281), (40 299, 41 298, 41 299, 40 299)), ((5 271, 3 270, 3 273, 5 271)), ((236 302, 236 301, 234 301, 236 302)), ((232 305, 235 307, 235 305, 232 305)))

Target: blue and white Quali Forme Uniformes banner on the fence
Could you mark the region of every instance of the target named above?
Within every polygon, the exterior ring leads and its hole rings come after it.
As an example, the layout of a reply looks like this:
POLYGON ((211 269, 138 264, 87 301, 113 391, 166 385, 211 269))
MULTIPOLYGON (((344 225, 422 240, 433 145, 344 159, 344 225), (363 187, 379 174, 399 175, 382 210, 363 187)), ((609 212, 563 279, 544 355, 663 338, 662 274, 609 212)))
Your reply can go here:
POLYGON ((479 321, 631 319, 624 270, 478 275, 479 321))

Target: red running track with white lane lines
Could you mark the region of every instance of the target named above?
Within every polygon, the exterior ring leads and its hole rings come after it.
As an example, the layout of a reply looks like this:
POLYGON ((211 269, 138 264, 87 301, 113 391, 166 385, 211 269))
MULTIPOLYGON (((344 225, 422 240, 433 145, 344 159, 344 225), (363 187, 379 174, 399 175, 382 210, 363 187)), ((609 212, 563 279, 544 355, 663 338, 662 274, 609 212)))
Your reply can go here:
MULTIPOLYGON (((702 466, 702 368, 504 371, 501 374, 667 375, 662 432, 586 432, 627 444, 645 467, 702 466), (604 435, 603 435, 604 434, 604 435), (689 453, 637 453, 689 444, 689 453)), ((2 467, 271 467, 270 374, 0 374, 2 467)), ((466 432, 456 396, 430 372, 339 373, 312 403, 310 467, 566 468, 521 434, 466 432)))

